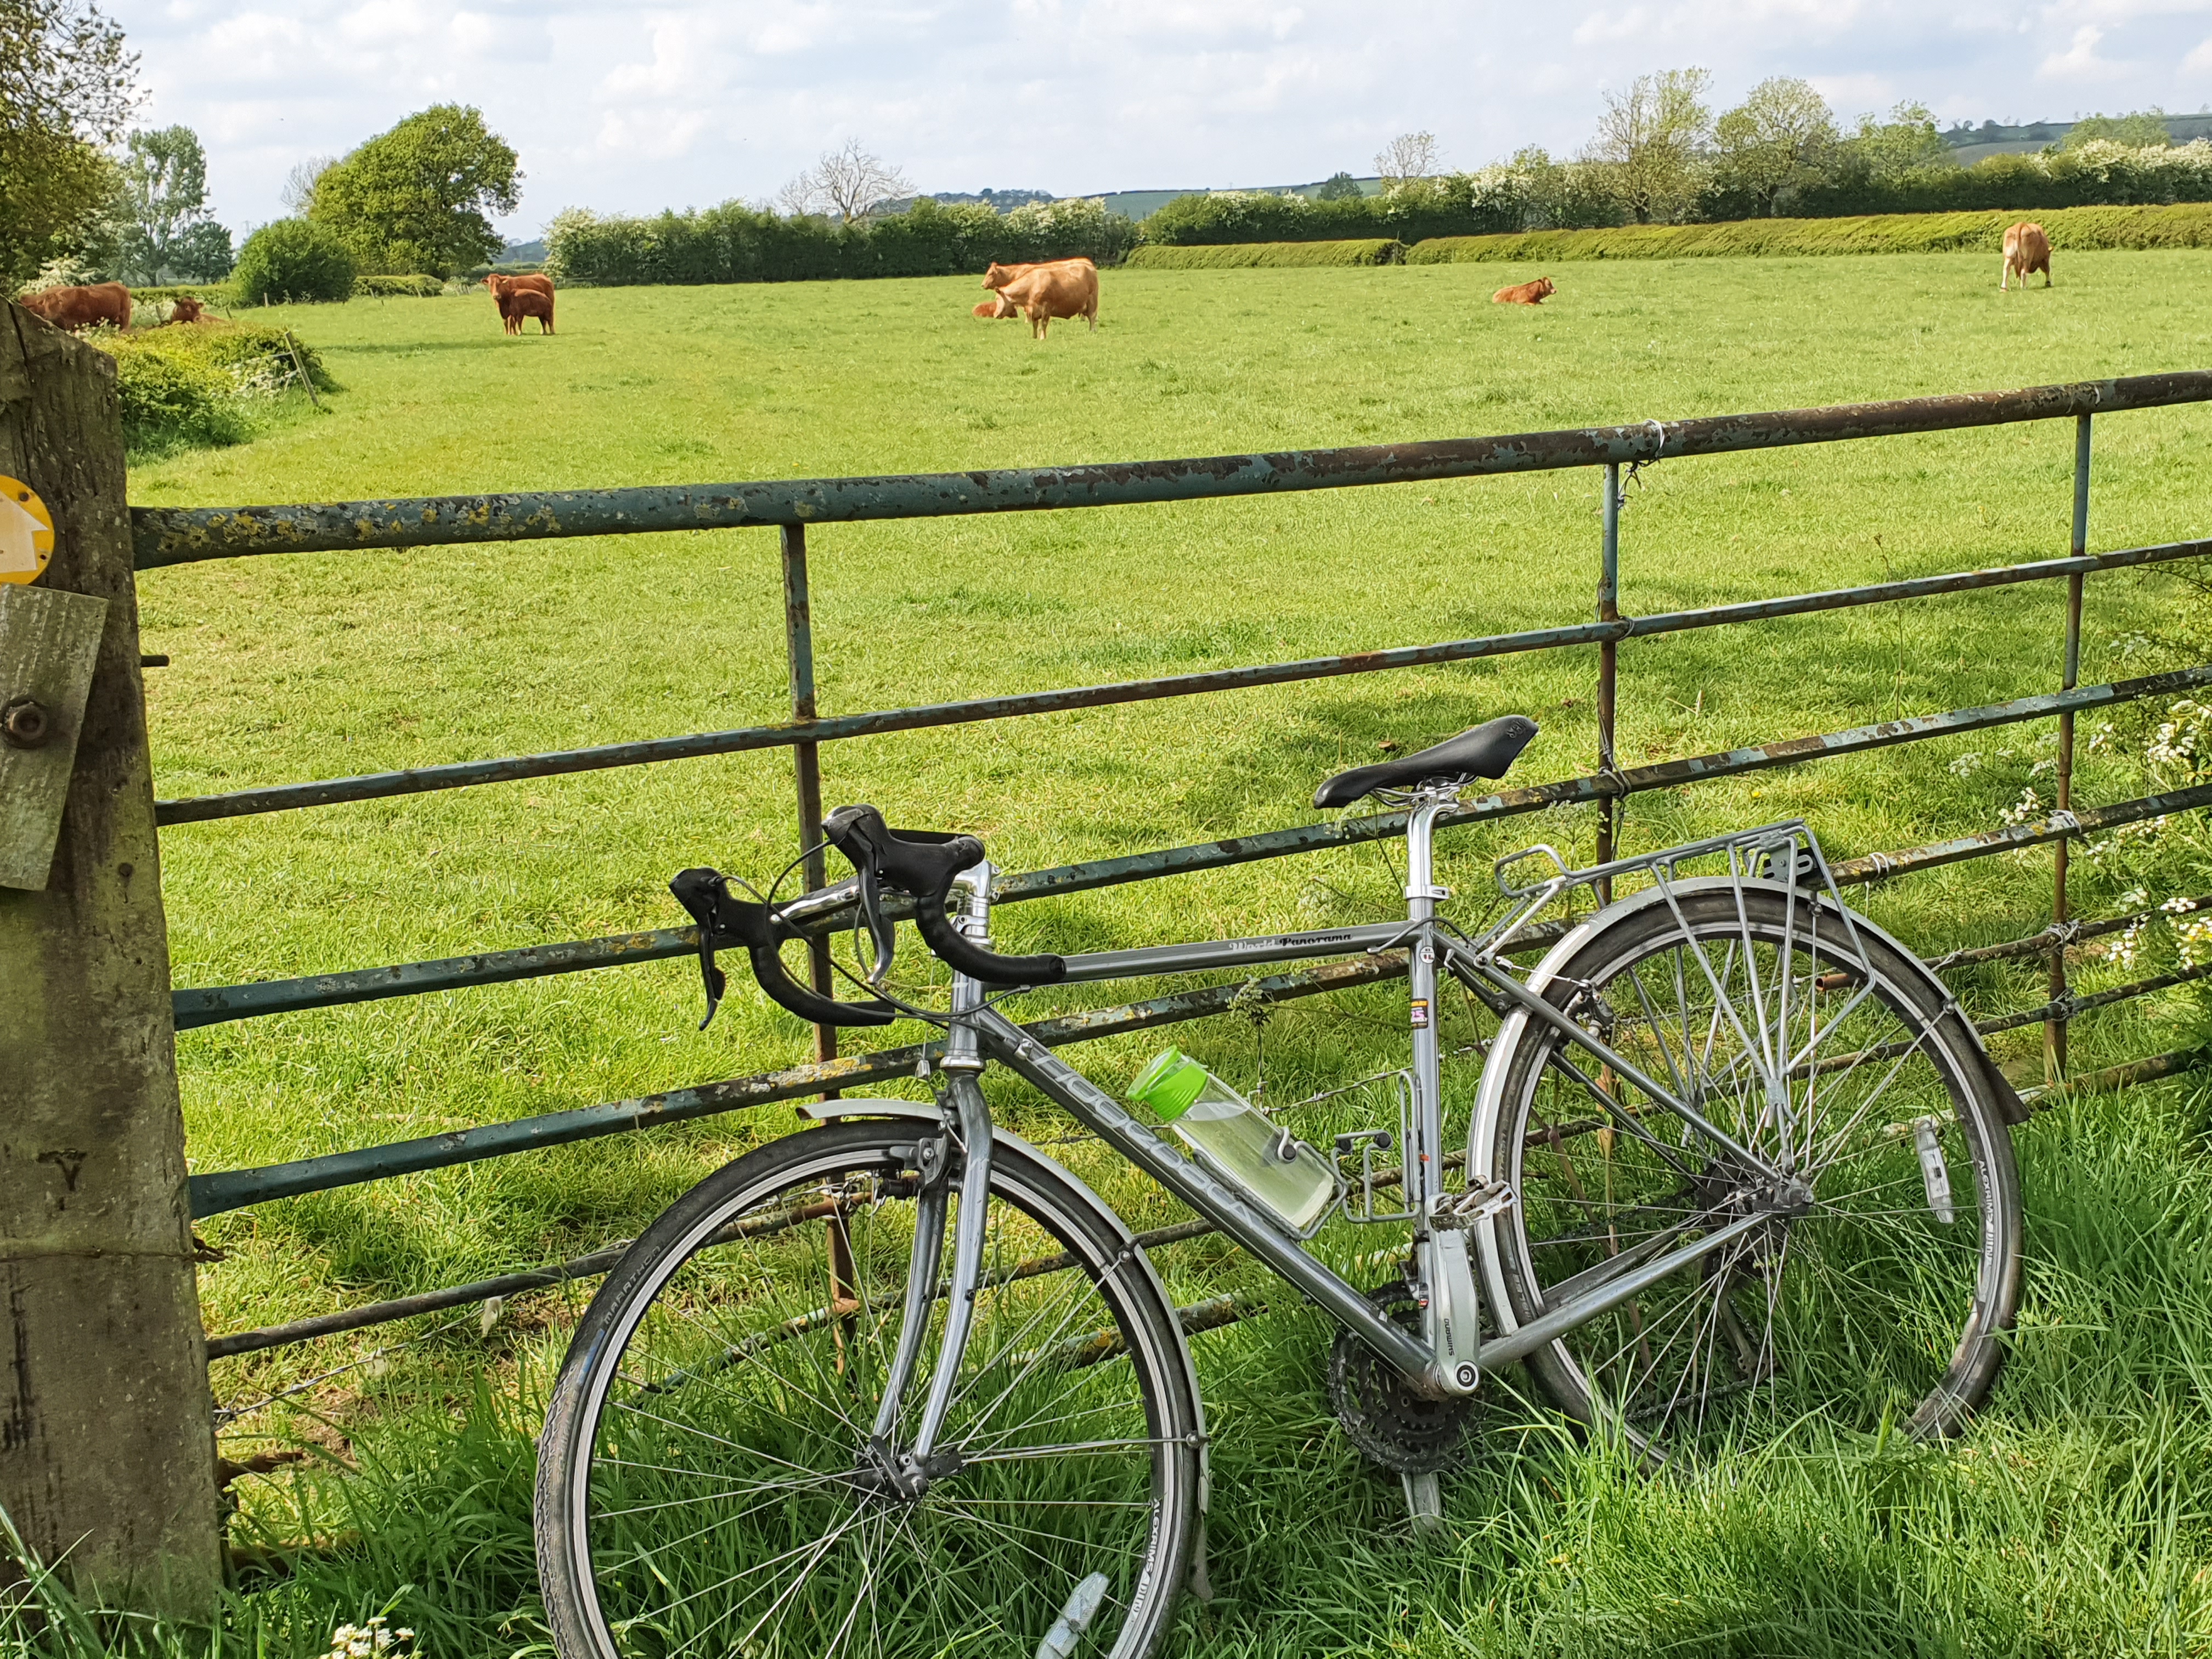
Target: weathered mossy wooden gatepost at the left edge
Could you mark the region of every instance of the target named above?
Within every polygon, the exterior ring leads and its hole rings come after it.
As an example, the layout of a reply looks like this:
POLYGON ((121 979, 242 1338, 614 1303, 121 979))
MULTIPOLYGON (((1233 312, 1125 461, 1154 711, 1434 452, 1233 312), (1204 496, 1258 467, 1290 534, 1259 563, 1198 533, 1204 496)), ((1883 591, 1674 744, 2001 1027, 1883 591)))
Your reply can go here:
POLYGON ((215 1610, 215 1418, 186 1208, 115 367, 0 305, 0 473, 38 586, 106 599, 44 887, 0 887, 0 1506, 82 1597, 215 1610))

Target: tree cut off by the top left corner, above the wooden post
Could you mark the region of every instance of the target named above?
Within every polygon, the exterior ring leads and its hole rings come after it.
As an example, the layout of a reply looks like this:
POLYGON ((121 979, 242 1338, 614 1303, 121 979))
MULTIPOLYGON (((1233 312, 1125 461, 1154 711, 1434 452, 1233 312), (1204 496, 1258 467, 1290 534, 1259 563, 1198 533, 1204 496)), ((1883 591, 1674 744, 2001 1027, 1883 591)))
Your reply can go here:
POLYGON ((137 102, 137 55, 88 0, 0 0, 0 292, 108 234, 100 146, 137 102))

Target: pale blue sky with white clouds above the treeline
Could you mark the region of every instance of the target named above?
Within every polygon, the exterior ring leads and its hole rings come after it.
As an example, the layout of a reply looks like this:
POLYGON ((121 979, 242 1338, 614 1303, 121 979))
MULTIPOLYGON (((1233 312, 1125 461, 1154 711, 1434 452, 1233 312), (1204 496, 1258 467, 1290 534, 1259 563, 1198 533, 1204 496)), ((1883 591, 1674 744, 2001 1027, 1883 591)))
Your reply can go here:
POLYGON ((2212 100, 2212 0, 100 0, 144 124, 208 148, 232 230, 285 175, 403 115, 476 104, 562 208, 761 201, 858 139, 920 190, 1230 188, 1579 148, 1608 88, 1712 71, 1714 108, 1803 75, 1838 115, 2070 119, 2212 100))

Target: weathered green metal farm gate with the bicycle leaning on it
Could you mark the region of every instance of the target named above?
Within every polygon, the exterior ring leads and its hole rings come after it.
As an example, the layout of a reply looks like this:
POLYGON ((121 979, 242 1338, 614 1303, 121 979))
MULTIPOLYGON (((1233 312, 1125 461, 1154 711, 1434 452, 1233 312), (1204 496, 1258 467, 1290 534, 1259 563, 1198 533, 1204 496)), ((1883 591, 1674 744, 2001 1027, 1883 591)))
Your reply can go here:
MULTIPOLYGON (((0 341, 4 343, 4 341, 0 341)), ((7 365, 0 363, 0 369, 7 365)), ((1798 765, 1836 754, 1858 754, 1900 743, 1955 737, 2024 721, 2057 721, 2057 810, 2031 823, 1995 825, 1982 834, 1960 836, 1924 847, 1902 847, 1849 858, 1836 865, 1840 883, 1882 883, 1898 876, 1986 858, 2022 847, 2053 849, 2051 925, 2026 938, 1955 951, 1936 962, 1938 969, 2004 958, 2042 958, 2048 962, 2048 998, 2002 1018, 1982 1020, 1984 1033, 2042 1024, 2046 1031, 2046 1073, 2042 1091, 2051 1099, 2062 1088, 2117 1088, 2130 1082, 2163 1077, 2192 1064, 2192 1055, 2166 1053, 2115 1066, 2101 1073, 2070 1077, 2066 1064, 2068 1022, 2090 1009, 2139 998, 2159 989, 2212 975, 2208 967, 2181 967, 2141 978, 2095 995, 2068 991, 2066 949, 2081 940, 2141 927, 2159 916, 2143 909, 2081 922, 2068 905, 2068 843, 2119 825, 2143 823, 2166 814, 2212 805, 2212 785, 2119 801, 2097 807, 2073 805, 2075 721, 2084 710, 2110 708, 2135 699, 2188 695, 2212 684, 2212 664, 2177 672, 2126 679, 2106 686, 2079 686, 2081 591, 2093 573, 2126 571, 2179 560, 2201 560, 2212 542, 2168 542, 2110 553, 2088 553, 2090 504, 2090 434, 2097 416, 2130 409, 2152 409, 2212 400, 2212 372, 2181 372, 2093 380, 2079 385, 2035 387, 2026 392, 1909 398, 1896 403, 1863 403, 1783 414, 1712 416, 1692 420, 1644 422, 1632 427, 1588 427, 1573 431, 1517 434, 1500 438, 1462 438, 1418 445, 1371 445, 1354 449, 1316 449, 1263 456, 1219 456, 1206 460, 1164 460, 1110 467, 1051 467, 1018 471, 933 473, 891 478, 821 478, 761 484, 655 487, 555 491, 524 495, 467 495, 425 500, 374 500, 299 507, 237 509, 133 509, 128 518, 128 562, 153 571, 199 560, 237 560, 314 551, 365 551, 453 546, 473 542, 511 542, 573 535, 637 535, 659 531, 774 526, 783 553, 783 604, 787 626, 787 666, 792 719, 783 726, 754 726, 723 732, 697 732, 630 743, 520 754, 502 759, 425 765, 407 772, 369 776, 276 783, 226 794, 206 794, 153 803, 157 825, 206 823, 261 812, 290 812, 376 801, 429 790, 482 787, 520 779, 555 776, 599 768, 655 765, 708 754, 745 750, 790 750, 796 774, 796 841, 814 847, 821 841, 818 754, 823 743, 858 737, 960 726, 973 721, 1020 719, 1068 708, 1133 703, 1148 699, 1199 697, 1252 686, 1279 686, 1334 675, 1371 675, 1394 668, 1471 661, 1540 650, 1595 650, 1597 677, 1597 754, 1582 776, 1500 790, 1462 803, 1451 823, 1504 818, 1540 812, 1562 803, 1590 803, 1599 814, 1597 856, 1613 854, 1619 803, 1639 792, 1670 790, 1703 779, 1732 776, 1776 765, 1798 765), (1619 613, 1619 518, 1624 467, 1652 460, 1688 460, 1750 449, 1840 442, 1907 434, 1995 427, 2026 420, 2073 420, 2073 538, 2064 557, 2008 564, 1982 571, 1958 571, 1900 582, 1851 588, 1778 595, 1741 604, 1624 617, 1619 613), (956 703, 891 708, 854 714, 825 714, 814 692, 814 635, 807 597, 807 531, 821 524, 887 518, 945 518, 964 513, 1073 511, 1106 509, 1135 502, 1194 502, 1225 495, 1261 495, 1281 491, 1345 489, 1363 484, 1402 484, 1493 473, 1590 467, 1601 478, 1601 544, 1597 557, 1595 617, 1590 622, 1478 639, 1413 644, 1391 650, 1367 650, 1343 657, 1261 664, 1214 672, 1137 679, 1108 686, 1040 690, 1011 697, 982 697, 956 703), (1659 761, 1624 768, 1615 757, 1615 714, 1619 697, 1619 648, 1628 639, 1646 639, 1697 628, 1725 628, 1743 622, 1814 615, 1856 606, 1893 604, 1947 593, 2015 586, 2028 582, 2064 582, 2064 633, 2053 639, 2055 686, 2035 697, 2020 697, 1982 708, 1958 708, 1942 714, 1880 721, 1818 737, 1785 737, 1756 748, 1721 754, 1659 761)), ((4 440, 4 429, 0 429, 4 440)), ((119 453, 119 442, 117 442, 119 453)), ((9 449, 0 442, 0 471, 7 471, 9 449)), ((20 471, 20 467, 18 467, 20 471)), ((119 473, 119 467, 117 467, 119 473)), ((38 478, 31 480, 38 484, 38 478)), ((60 564, 58 564, 60 568, 60 564)), ((128 580, 128 573, 124 573, 128 580)), ((84 584, 84 591, 100 591, 84 584)), ((0 588, 4 593, 4 588, 0 588)), ((111 641, 115 644, 115 641, 111 641)), ((137 650, 135 624, 128 653, 137 650)), ((104 659, 106 661, 106 659, 104 659)), ((4 668, 4 657, 0 657, 4 668)), ((0 695, 7 688, 0 686, 0 695)), ((135 681, 131 684, 137 697, 135 681)), ((4 697, 0 697, 4 701, 4 697)), ((144 714, 139 712, 139 721, 144 714)), ((80 772, 91 761, 80 754, 80 772)), ((1219 869, 1225 865, 1281 858, 1321 847, 1343 847, 1405 834, 1405 814, 1374 814, 1338 823, 1307 823, 1265 834, 1234 836, 1186 847, 1164 847, 1053 869, 1031 869, 1002 878, 1000 898, 1009 902, 1073 894, 1119 883, 1219 869)), ((69 832, 64 827, 64 856, 69 832)), ((821 852, 805 865, 810 887, 823 885, 821 852)), ((4 931, 7 900, 0 894, 0 991, 7 989, 4 956, 11 933, 4 931)), ((500 984, 553 973, 619 969, 686 956, 695 949, 692 929, 657 929, 613 938, 531 945, 434 962, 400 962, 363 967, 343 973, 319 973, 299 980, 274 980, 230 987, 190 987, 170 991, 175 1029, 208 1026, 226 1020, 252 1020, 299 1009, 321 1009, 378 998, 422 995, 476 984, 500 984)), ((825 945, 816 949, 816 980, 827 982, 825 945)), ((166 945, 161 949, 166 962, 166 945)), ((1256 991, 1270 1000, 1316 995, 1352 984, 1367 984, 1405 973, 1398 958, 1325 964, 1285 971, 1256 980, 1256 991)), ((1183 991, 1115 1009, 1097 1009, 1042 1020, 1031 1031, 1046 1044, 1084 1042, 1121 1031, 1172 1024, 1223 1013, 1245 987, 1183 991)), ((1239 1004, 1243 1006, 1243 1004, 1239 1004)), ((166 1033, 161 1033, 166 1042, 166 1033)), ((166 1053, 166 1048, 164 1048, 166 1053)), ((307 1157, 265 1168, 219 1170, 190 1177, 190 1217, 210 1217, 272 1199, 319 1192, 358 1181, 383 1181, 418 1170, 434 1170, 476 1159, 509 1157, 542 1146, 560 1146, 597 1135, 619 1135, 714 1113, 732 1113, 768 1102, 801 1099, 830 1091, 880 1084, 914 1073, 920 1048, 883 1048, 858 1055, 836 1055, 834 1033, 816 1033, 816 1062, 787 1071, 730 1077, 723 1082, 672 1088, 639 1099, 608 1102, 575 1110, 544 1113, 504 1124, 484 1124, 458 1133, 367 1146, 349 1152, 307 1157)), ((170 1079, 170 1091, 175 1088, 170 1079)), ((2035 1095, 2037 1091, 2028 1091, 2035 1095)), ((173 1093, 170 1093, 173 1099, 173 1093)), ((179 1137, 181 1124, 173 1130, 179 1137)), ((0 1157, 0 1164, 7 1159, 0 1157)), ((1188 1237, 1190 1228, 1172 1230, 1188 1237)), ((0 1259, 11 1245, 0 1239, 0 1259)), ((507 1296, 533 1287, 606 1272, 619 1250, 602 1250, 568 1263, 533 1272, 504 1274, 471 1285, 405 1296, 398 1301, 354 1307, 319 1318, 265 1329, 223 1332, 206 1343, 206 1356, 250 1354, 283 1343, 301 1343, 334 1332, 358 1329, 385 1321, 409 1318, 447 1307, 507 1296)), ((195 1325, 197 1336, 197 1325, 195 1325)), ((206 1394, 199 1396, 206 1400, 206 1394)), ((0 1484, 13 1486, 0 1462, 0 1484)), ((0 1491, 4 1498, 4 1491, 0 1491)), ((80 1528, 82 1531, 82 1528, 80 1528)))

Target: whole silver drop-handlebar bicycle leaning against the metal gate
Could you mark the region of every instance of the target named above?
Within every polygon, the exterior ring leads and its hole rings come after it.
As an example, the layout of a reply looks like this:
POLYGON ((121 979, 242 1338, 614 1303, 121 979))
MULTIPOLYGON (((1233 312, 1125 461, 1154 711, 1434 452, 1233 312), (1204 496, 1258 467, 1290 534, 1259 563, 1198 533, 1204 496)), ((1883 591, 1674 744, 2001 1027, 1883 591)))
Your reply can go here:
POLYGON ((787 905, 677 876, 708 1018, 719 949, 745 949, 810 1022, 927 1018, 936 1104, 814 1108, 832 1121, 710 1175, 606 1279, 540 1440, 562 1659, 1139 1659, 1186 1582, 1208 1593, 1183 1325, 1130 1228, 993 1126, 987 1066, 1194 1210, 1183 1232, 1228 1234, 1336 1323, 1332 1400, 1418 1526, 1440 1524, 1482 1378, 1515 1360, 1655 1462, 1805 1411, 1955 1431, 2020 1290, 2020 1097, 1933 973, 1843 902, 1801 821, 1590 869, 1528 847, 1498 863, 1489 927, 1444 920, 1438 816, 1535 730, 1504 717, 1323 783, 1316 805, 1407 812, 1407 914, 1378 925, 1002 956, 982 845, 894 832, 874 807, 825 823, 856 874, 787 905), (1553 927, 1533 969, 1511 962, 1562 898, 1637 880, 1553 927), (887 989, 907 900, 953 971, 949 1009, 887 989), (776 953, 843 914, 869 947, 847 973, 858 1000, 801 987, 776 953), (1405 1230, 1378 1290, 1000 1011, 1046 984, 1400 951, 1400 1121, 1334 1146, 1334 1212, 1405 1230), (1464 1159, 1440 1104, 1447 984, 1498 1018, 1464 1159), (1400 1168, 1378 1170, 1398 1144, 1400 1168))

